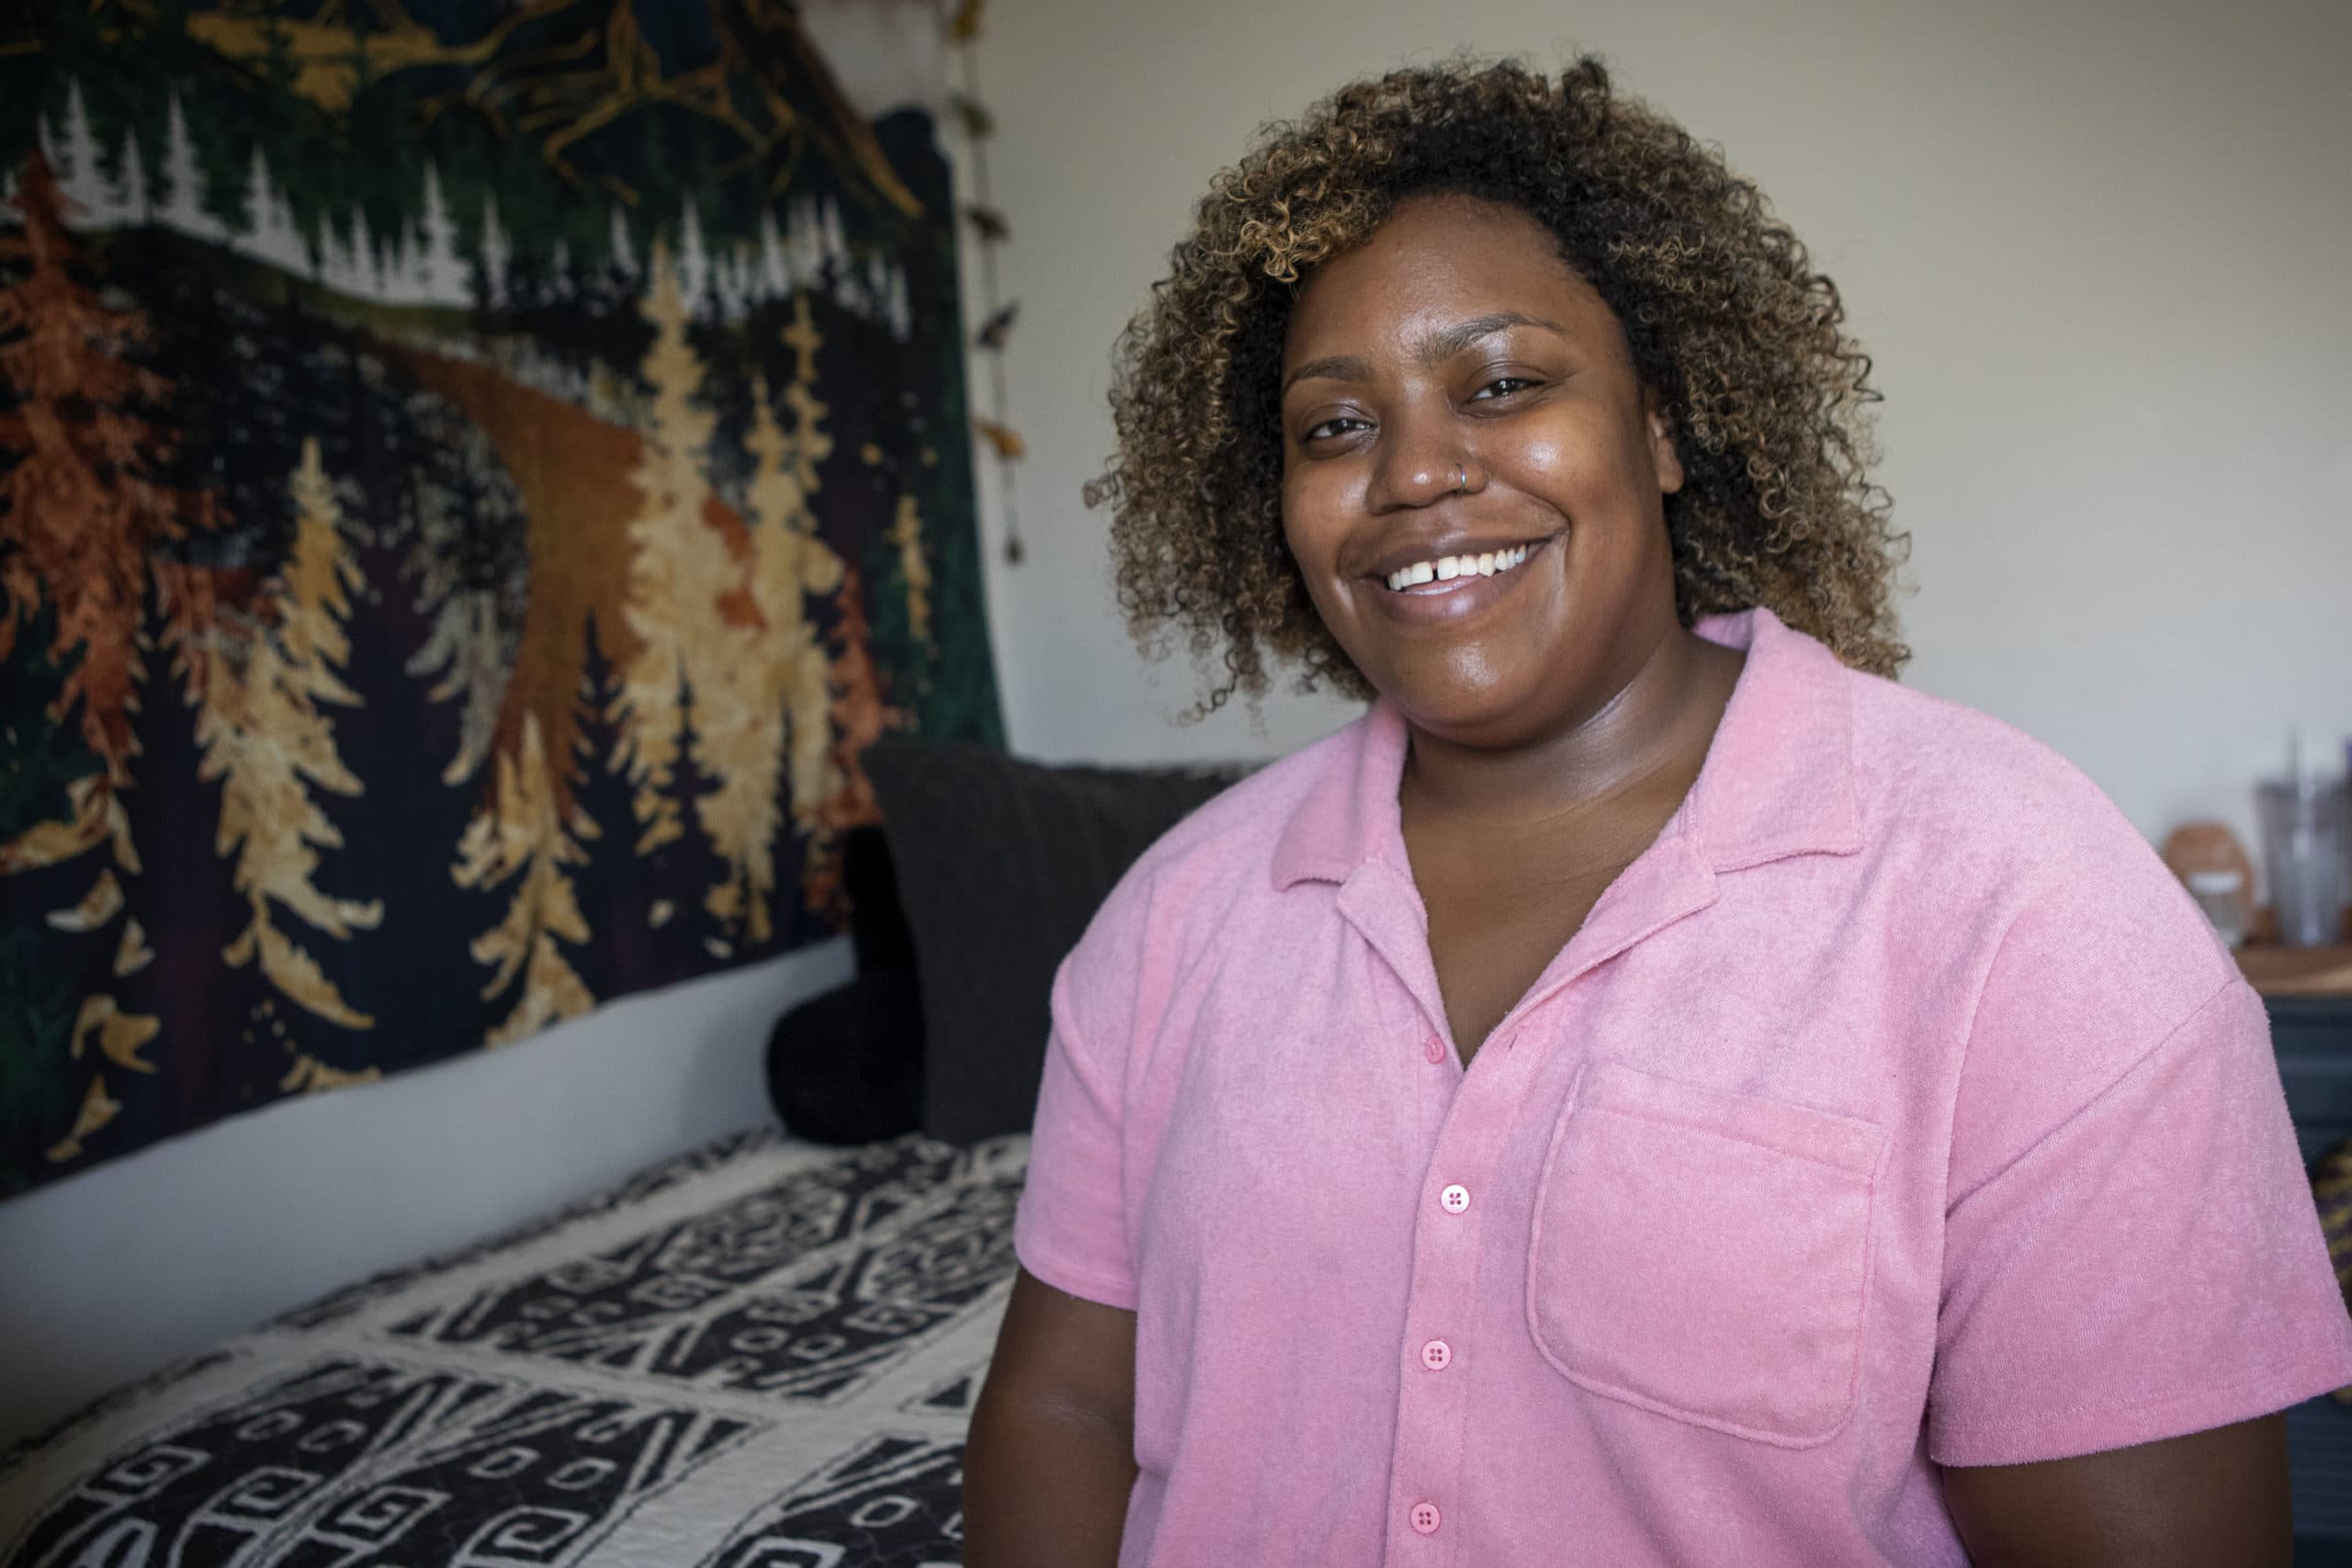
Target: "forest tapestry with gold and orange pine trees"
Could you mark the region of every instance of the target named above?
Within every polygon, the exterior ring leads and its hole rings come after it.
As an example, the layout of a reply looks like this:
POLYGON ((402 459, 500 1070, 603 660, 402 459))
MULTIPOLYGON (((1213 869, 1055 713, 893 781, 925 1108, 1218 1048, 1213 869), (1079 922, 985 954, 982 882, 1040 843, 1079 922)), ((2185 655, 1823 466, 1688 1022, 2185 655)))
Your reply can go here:
POLYGON ((861 750, 1000 738, 931 113, 783 0, 33 9, 0 1194, 830 933, 861 750))

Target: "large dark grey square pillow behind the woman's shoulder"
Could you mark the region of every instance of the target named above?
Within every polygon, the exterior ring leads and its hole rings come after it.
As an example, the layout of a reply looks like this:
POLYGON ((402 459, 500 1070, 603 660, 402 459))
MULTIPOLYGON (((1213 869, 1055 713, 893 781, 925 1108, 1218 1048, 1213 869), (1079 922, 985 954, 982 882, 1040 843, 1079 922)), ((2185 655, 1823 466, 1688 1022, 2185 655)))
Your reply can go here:
POLYGON ((922 980, 922 1131, 1023 1133, 1054 969, 1152 839, 1235 769, 1056 769, 981 745, 882 741, 866 776, 922 980))

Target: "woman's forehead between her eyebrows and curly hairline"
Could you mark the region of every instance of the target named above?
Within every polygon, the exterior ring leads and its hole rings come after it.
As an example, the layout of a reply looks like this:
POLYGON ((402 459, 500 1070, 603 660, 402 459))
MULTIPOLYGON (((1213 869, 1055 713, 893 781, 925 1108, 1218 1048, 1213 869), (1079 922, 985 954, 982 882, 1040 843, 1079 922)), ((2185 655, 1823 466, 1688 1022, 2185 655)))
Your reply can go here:
POLYGON ((1364 353, 1378 339, 1402 341, 1496 310, 1623 341, 1616 315, 1526 212, 1470 195, 1418 195, 1362 244, 1308 273, 1284 360, 1364 353))

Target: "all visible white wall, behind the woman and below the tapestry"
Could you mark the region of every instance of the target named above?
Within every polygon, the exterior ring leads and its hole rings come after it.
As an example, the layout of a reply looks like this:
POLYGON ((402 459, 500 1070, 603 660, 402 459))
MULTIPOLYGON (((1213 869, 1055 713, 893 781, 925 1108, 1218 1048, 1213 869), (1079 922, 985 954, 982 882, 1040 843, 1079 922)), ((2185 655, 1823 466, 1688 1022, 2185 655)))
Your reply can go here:
MULTIPOLYGON (((2084 764, 2150 832, 2244 820, 2288 719, 2352 731, 2352 7, 1860 0, 1002 0, 981 85, 1028 564, 990 614, 1016 748, 1265 755, 1178 729, 1110 614, 1110 341, 1265 118, 1454 45, 1621 82, 1722 141, 1844 284, 1917 538, 1912 682, 2084 764)), ((976 317, 976 310, 971 313, 976 317)), ((767 1114, 830 945, 494 1053, 235 1117, 0 1204, 0 1441, 313 1293, 767 1114)))

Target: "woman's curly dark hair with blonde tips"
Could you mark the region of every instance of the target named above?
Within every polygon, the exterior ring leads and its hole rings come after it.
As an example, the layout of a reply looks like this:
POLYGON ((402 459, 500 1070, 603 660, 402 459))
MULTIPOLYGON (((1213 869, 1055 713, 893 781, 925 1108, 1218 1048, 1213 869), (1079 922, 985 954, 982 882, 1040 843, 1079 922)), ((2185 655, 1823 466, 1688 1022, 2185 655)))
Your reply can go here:
POLYGON ((1261 132, 1120 336, 1120 447, 1087 503, 1110 505, 1136 639, 1176 632, 1204 665, 1223 654, 1202 710, 1261 696, 1268 658, 1296 661, 1301 689, 1371 696, 1282 538, 1282 346, 1315 263, 1437 193, 1529 214, 1616 313, 1682 456, 1665 496, 1682 621, 1762 604, 1891 675, 1910 656, 1891 604, 1905 536, 1865 473, 1877 393, 1837 284, 1752 183, 1616 96, 1597 59, 1557 82, 1456 61, 1355 82, 1261 132))

